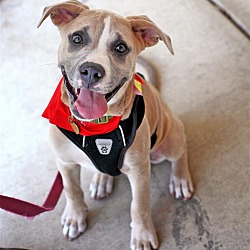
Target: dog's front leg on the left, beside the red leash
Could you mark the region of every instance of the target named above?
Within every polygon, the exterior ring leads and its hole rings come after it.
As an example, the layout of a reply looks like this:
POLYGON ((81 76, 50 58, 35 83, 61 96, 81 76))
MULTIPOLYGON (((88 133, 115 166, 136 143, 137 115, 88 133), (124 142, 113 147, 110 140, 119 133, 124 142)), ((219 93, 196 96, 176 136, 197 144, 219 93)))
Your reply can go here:
POLYGON ((63 235, 74 239, 86 230, 87 206, 80 187, 80 166, 57 159, 66 195, 66 206, 61 217, 63 235))

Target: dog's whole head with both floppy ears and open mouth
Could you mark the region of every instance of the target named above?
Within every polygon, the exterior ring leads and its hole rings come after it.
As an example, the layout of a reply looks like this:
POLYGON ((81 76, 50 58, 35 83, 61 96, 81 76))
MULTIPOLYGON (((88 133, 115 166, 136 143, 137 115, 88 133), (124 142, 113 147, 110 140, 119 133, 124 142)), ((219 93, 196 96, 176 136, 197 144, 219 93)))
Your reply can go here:
POLYGON ((62 38, 62 100, 80 120, 107 112, 108 102, 133 78, 137 55, 146 47, 162 40, 173 54, 170 38, 146 16, 123 18, 78 1, 46 7, 38 27, 48 16, 62 38))

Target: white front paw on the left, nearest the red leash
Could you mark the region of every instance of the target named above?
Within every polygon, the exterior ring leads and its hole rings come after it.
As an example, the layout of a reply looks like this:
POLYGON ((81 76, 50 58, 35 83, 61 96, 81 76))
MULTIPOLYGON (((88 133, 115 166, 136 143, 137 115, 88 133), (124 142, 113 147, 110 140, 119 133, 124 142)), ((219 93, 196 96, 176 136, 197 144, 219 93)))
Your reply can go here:
POLYGON ((61 217, 63 235, 70 240, 78 237, 87 228, 86 218, 87 206, 83 201, 74 204, 67 203, 61 217))

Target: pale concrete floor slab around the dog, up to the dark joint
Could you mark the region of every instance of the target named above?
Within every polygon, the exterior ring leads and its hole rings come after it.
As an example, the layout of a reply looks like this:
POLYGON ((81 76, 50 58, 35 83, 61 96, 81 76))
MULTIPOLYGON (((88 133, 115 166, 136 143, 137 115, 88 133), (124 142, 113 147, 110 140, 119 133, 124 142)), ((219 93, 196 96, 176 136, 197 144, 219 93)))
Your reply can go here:
MULTIPOLYGON (((36 29, 55 0, 2 0, 0 192, 42 204, 56 175, 41 118, 60 78, 59 35, 49 20, 36 29)), ((247 250, 250 246, 250 46, 210 3, 202 1, 91 0, 123 15, 146 14, 172 38, 144 52, 160 69, 162 95, 186 126, 196 188, 188 202, 169 195, 169 163, 152 168, 153 220, 161 250, 247 250)), ((247 12, 249 15, 249 11, 247 12)), ((126 176, 112 196, 91 200, 91 173, 82 172, 90 209, 88 230, 63 238, 56 209, 34 220, 0 211, 0 247, 32 250, 125 250, 130 241, 131 192, 126 176)))

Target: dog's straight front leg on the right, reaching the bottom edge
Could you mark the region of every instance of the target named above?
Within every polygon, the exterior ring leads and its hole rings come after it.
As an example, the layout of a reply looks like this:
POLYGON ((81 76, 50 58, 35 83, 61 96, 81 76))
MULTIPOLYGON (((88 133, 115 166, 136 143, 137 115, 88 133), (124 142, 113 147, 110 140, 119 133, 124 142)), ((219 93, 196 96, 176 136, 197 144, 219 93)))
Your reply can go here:
POLYGON ((127 172, 132 189, 131 242, 132 250, 157 249, 158 239, 151 217, 150 160, 127 172))

